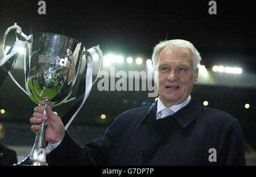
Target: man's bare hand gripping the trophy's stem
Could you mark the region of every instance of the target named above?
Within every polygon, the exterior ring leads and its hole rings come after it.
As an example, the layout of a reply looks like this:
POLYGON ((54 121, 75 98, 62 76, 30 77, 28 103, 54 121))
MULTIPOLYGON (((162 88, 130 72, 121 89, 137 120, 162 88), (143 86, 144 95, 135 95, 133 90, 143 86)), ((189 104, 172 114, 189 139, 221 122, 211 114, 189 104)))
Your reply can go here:
POLYGON ((59 116, 52 112, 49 106, 46 108, 46 116, 43 115, 43 110, 42 107, 35 107, 33 117, 30 118, 30 123, 32 124, 31 130, 37 133, 41 128, 40 123, 44 120, 48 124, 46 129, 46 141, 52 144, 60 142, 65 135, 63 122, 59 116))

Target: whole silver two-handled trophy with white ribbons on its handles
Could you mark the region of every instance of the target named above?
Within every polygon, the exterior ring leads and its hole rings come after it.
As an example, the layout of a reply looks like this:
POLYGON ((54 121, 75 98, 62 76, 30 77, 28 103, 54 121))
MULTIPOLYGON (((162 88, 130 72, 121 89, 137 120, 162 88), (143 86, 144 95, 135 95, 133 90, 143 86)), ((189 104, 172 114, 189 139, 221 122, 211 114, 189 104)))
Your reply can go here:
MULTIPOLYGON (((26 90, 15 81, 10 71, 9 75, 15 84, 36 104, 44 107, 44 115, 46 115, 46 107, 55 107, 67 102, 81 69, 82 58, 86 59, 86 65, 83 69, 83 73, 86 72, 83 74, 86 75, 84 101, 86 100, 97 79, 96 77, 95 81, 92 82, 92 57, 94 54, 98 54, 101 58, 102 65, 102 52, 98 46, 86 50, 79 41, 55 33, 43 32, 26 36, 22 29, 14 24, 7 29, 3 37, 2 53, 4 57, 0 61, 2 63, 7 61, 8 58, 17 53, 20 47, 25 49, 23 58, 26 90), (12 29, 16 29, 16 42, 5 54, 3 51, 6 36, 12 29)), ((101 65, 98 66, 98 73, 101 65)), ((43 121, 41 125, 31 153, 16 165, 47 165, 45 140, 47 123, 43 121)))

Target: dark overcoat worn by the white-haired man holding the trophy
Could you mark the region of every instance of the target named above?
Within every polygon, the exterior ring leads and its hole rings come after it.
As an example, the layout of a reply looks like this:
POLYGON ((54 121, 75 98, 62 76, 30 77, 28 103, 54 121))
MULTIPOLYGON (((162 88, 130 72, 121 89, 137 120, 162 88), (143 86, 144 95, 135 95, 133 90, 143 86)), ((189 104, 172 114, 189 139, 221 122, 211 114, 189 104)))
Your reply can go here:
POLYGON ((66 132, 47 155, 49 165, 245 165, 242 131, 233 116, 192 96, 174 115, 156 120, 156 105, 123 112, 104 137, 83 148, 66 132))

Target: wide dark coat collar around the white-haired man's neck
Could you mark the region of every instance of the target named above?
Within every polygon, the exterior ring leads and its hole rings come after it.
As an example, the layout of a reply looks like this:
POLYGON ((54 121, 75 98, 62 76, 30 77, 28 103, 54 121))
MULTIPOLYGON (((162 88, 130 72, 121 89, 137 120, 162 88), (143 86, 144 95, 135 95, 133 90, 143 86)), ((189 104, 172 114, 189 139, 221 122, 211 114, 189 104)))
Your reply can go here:
MULTIPOLYGON (((151 107, 147 109, 147 112, 145 113, 145 116, 142 117, 141 123, 143 120, 148 118, 148 114, 152 113, 152 115, 156 115, 156 108, 157 108, 157 102, 153 104, 151 107)), ((191 100, 189 103, 181 108, 179 111, 175 112, 174 115, 168 116, 168 117, 174 117, 176 122, 181 127, 187 127, 190 123, 192 123, 193 120, 196 119, 196 117, 200 114, 202 111, 203 106, 200 104, 199 101, 196 100, 194 96, 191 95, 191 100)), ((163 119, 168 119, 168 117, 163 119)))

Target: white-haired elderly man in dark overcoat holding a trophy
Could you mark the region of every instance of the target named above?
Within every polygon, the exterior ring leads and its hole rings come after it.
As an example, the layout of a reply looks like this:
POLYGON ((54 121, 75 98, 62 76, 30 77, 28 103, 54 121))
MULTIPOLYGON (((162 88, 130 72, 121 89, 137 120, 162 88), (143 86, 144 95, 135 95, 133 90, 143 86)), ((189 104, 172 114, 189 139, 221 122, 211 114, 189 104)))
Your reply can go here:
POLYGON ((50 108, 47 116, 35 108, 31 129, 37 132, 42 119, 49 125, 49 165, 245 165, 238 121, 190 95, 201 60, 196 48, 185 40, 163 41, 152 58, 158 102, 123 112, 104 137, 84 147, 65 132, 50 108))

